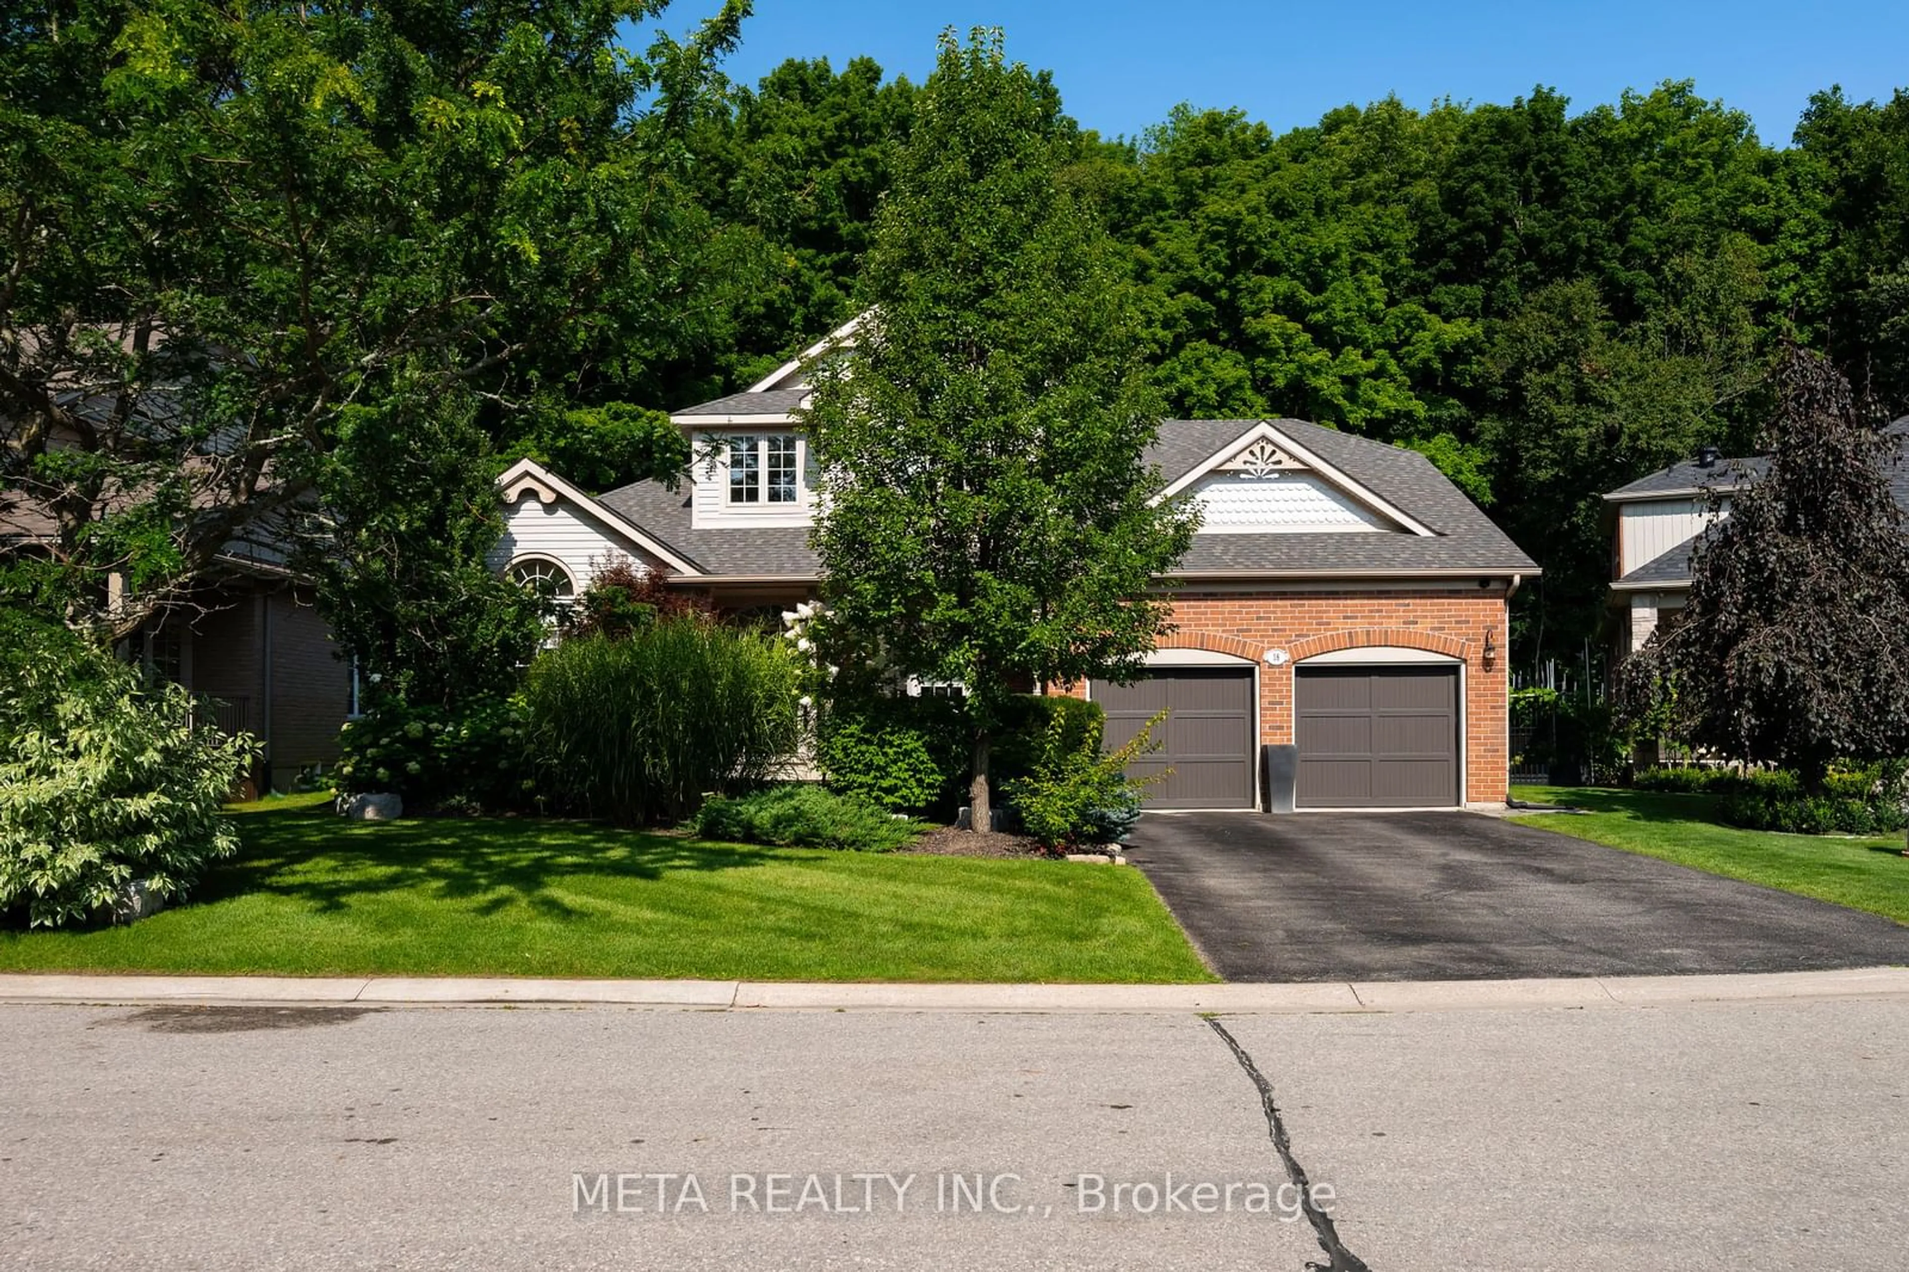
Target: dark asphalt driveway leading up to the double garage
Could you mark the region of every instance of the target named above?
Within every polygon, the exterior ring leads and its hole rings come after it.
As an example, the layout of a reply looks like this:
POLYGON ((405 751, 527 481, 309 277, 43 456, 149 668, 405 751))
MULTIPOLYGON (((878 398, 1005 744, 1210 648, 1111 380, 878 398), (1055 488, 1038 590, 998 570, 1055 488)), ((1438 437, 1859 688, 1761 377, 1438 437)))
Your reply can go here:
POLYGON ((1497 817, 1149 814, 1128 846, 1227 980, 1787 972, 1909 928, 1497 817))

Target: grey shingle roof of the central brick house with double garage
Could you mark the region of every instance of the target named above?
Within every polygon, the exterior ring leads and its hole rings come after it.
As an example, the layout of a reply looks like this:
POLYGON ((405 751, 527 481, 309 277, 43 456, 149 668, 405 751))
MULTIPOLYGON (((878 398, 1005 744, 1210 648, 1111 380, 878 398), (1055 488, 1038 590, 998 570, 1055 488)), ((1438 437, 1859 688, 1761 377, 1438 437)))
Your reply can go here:
MULTIPOLYGON (((720 411, 767 414, 760 399, 800 399, 806 390, 735 393, 678 414, 720 411), (745 401, 737 401, 743 397, 745 401)), ((1260 420, 1166 420, 1147 462, 1159 464, 1166 481, 1187 474, 1260 420)), ((1178 573, 1371 573, 1371 571, 1518 571, 1537 573, 1537 563, 1491 523, 1432 462, 1416 451, 1342 434, 1304 420, 1269 420, 1296 445, 1340 470, 1352 481, 1436 531, 1411 533, 1300 533, 1300 535, 1199 535, 1178 573)), ((819 571, 806 527, 695 527, 689 491, 668 491, 640 481, 599 497, 676 554, 712 575, 794 575, 819 571)))

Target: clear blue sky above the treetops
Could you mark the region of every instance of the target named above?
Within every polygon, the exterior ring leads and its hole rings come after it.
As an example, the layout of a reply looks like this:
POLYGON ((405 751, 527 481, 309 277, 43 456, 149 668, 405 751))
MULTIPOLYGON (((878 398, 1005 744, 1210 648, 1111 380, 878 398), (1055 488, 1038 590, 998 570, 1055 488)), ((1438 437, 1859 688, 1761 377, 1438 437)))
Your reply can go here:
MULTIPOLYGON (((685 29, 714 8, 676 0, 664 23, 685 29)), ((1817 88, 1861 101, 1909 86, 1901 0, 756 0, 727 71, 754 82, 785 57, 840 69, 867 53, 918 82, 951 25, 1006 29, 1008 53, 1054 71, 1069 115, 1107 136, 1138 134, 1178 101, 1237 105, 1285 130, 1388 92, 1424 107, 1548 84, 1583 111, 1695 78, 1785 145, 1817 88)))

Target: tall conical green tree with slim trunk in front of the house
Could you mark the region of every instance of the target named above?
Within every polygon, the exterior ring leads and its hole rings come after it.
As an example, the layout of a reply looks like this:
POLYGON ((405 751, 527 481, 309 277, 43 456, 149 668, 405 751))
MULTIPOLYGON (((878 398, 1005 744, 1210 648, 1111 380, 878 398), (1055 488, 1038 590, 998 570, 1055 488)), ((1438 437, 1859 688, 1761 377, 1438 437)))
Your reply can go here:
POLYGON ((832 621, 966 686, 979 829, 1010 695, 1138 667, 1193 533, 1143 464, 1161 403, 1115 246, 1058 180, 1071 134, 998 32, 943 36, 863 262, 871 319, 808 413, 832 621))

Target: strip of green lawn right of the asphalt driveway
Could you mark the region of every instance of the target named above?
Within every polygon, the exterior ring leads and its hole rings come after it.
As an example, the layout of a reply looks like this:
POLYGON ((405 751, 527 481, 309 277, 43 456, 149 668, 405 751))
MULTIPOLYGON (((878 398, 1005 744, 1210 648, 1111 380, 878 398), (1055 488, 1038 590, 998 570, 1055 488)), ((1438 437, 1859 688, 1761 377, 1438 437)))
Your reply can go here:
POLYGON ((1850 838, 1739 831, 1710 819, 1714 796, 1709 795, 1602 787, 1516 787, 1512 793, 1590 810, 1588 816, 1512 817, 1523 825, 1909 922, 1909 859, 1901 856, 1901 835, 1850 838))

